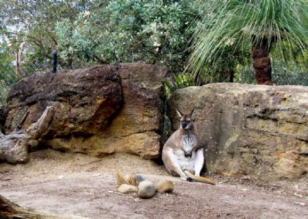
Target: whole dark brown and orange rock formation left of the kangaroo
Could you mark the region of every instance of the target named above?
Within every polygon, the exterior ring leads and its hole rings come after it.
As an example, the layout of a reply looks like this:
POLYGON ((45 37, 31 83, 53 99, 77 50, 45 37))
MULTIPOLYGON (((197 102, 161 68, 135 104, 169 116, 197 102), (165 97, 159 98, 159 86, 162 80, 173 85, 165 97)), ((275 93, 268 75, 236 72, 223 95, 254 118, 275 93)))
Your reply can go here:
POLYGON ((102 157, 116 151, 159 157, 166 68, 118 64, 32 75, 8 94, 5 131, 26 112, 23 128, 48 105, 55 107, 42 144, 70 153, 102 157))

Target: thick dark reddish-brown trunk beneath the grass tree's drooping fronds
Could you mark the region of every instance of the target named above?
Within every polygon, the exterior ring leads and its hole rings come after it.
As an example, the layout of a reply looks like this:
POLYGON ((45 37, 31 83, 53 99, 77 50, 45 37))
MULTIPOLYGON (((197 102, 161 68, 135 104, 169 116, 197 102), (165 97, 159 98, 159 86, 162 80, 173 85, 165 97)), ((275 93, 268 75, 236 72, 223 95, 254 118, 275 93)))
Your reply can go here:
POLYGON ((251 55, 257 84, 272 85, 272 66, 269 51, 267 38, 262 39, 261 42, 253 42, 251 55))

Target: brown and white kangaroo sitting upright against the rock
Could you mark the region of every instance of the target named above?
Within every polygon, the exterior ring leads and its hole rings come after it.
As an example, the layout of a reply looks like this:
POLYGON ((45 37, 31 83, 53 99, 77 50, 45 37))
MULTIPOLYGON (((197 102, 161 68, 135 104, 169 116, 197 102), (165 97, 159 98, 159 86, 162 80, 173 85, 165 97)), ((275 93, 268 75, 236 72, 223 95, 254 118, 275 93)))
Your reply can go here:
POLYGON ((185 181, 200 181, 215 184, 211 180, 200 177, 204 164, 203 149, 198 149, 198 136, 192 116, 177 110, 180 127, 164 144, 162 160, 170 175, 179 176, 185 181), (191 174, 193 173, 193 174, 191 174))

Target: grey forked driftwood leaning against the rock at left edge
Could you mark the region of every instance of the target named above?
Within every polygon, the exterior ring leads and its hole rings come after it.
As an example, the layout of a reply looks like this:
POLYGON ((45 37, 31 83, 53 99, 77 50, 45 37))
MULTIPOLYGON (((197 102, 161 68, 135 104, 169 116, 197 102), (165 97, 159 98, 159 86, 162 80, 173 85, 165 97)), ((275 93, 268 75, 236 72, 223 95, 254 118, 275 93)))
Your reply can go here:
POLYGON ((21 123, 12 133, 3 135, 0 131, 0 163, 26 163, 28 161, 28 149, 38 145, 38 139, 49 127, 54 114, 55 110, 50 106, 46 108, 38 121, 32 124, 28 129, 19 130, 27 117, 27 114, 25 114, 21 123))

